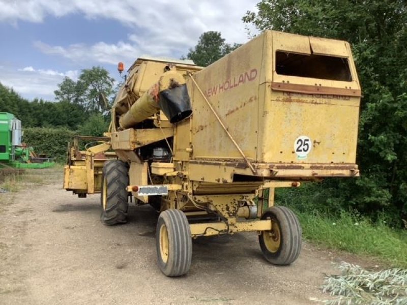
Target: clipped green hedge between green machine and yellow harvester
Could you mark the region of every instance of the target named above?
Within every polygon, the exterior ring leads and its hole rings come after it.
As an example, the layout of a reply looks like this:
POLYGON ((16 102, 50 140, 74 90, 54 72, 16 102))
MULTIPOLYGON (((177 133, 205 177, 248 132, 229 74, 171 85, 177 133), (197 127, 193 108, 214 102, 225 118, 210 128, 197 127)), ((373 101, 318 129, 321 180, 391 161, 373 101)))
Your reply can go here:
POLYGON ((63 162, 67 156, 68 142, 75 134, 75 131, 66 128, 25 128, 22 141, 33 146, 37 154, 63 162))

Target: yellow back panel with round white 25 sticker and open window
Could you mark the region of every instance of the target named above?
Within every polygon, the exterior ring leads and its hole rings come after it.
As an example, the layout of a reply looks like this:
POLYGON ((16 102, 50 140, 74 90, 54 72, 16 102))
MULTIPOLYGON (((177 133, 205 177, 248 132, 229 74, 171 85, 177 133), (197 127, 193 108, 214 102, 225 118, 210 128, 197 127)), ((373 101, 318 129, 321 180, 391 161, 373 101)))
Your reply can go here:
POLYGON ((272 34, 273 51, 266 56, 273 57, 273 82, 266 88, 265 109, 263 116, 260 114, 264 121, 263 128, 259 128, 257 161, 355 163, 361 90, 348 44, 272 34), (276 37, 281 38, 279 46, 274 43, 276 37), (309 40, 313 53, 347 57, 352 81, 278 75, 275 51, 278 48, 294 51, 294 44, 305 44, 305 39, 309 40), (309 143, 298 147, 304 140, 309 143), (310 147, 305 151, 307 154, 297 151, 308 148, 307 145, 310 147))

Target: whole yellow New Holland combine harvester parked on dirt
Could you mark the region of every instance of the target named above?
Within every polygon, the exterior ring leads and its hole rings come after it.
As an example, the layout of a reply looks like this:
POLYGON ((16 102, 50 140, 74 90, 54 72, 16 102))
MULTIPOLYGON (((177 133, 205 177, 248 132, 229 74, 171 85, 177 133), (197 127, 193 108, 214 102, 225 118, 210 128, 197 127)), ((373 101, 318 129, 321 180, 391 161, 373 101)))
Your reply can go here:
POLYGON ((243 231, 257 232, 269 262, 287 265, 301 227, 274 206, 274 189, 359 175, 360 96, 344 41, 267 31, 203 69, 139 58, 105 141, 71 149, 64 188, 101 193, 108 225, 126 222, 129 194, 157 208, 166 276, 188 272, 192 238, 243 231))

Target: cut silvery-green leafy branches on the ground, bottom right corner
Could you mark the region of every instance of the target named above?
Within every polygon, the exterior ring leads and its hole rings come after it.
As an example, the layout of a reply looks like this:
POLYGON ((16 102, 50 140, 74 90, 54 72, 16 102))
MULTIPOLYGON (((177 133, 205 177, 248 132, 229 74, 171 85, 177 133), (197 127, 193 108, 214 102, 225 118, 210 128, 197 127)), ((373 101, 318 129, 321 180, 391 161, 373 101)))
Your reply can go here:
POLYGON ((335 298, 316 301, 325 305, 407 304, 407 269, 369 271, 346 262, 342 262, 339 269, 341 275, 328 276, 322 286, 323 292, 335 298))

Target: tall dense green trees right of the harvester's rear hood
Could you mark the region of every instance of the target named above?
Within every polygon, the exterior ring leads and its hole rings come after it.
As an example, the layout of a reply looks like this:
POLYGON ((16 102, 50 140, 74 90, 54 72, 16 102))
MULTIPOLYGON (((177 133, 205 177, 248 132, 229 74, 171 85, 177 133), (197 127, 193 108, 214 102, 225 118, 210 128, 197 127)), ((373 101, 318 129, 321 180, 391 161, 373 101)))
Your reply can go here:
POLYGON ((349 41, 363 89, 359 179, 331 179, 328 203, 407 214, 407 8, 402 0, 263 0, 245 23, 349 41))

